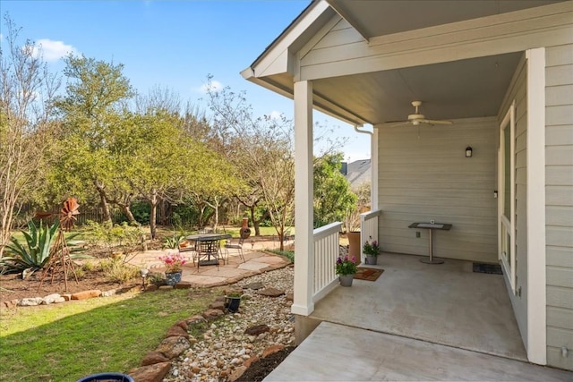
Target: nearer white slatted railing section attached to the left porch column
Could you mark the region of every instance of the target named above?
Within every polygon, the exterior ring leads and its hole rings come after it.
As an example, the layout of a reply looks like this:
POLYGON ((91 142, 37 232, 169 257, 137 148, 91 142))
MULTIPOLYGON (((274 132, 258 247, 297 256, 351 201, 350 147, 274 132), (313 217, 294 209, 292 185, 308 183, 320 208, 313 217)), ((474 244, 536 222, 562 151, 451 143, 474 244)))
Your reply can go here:
POLYGON ((314 283, 312 301, 321 300, 337 284, 336 262, 340 246, 342 223, 336 222, 321 226, 312 233, 314 242, 314 283))

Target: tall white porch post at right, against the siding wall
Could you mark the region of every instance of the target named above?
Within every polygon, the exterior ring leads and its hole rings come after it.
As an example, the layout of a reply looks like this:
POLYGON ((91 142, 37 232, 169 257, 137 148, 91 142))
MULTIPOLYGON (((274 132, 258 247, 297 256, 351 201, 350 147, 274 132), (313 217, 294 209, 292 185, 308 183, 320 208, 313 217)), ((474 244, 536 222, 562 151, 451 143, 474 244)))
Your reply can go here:
POLYGON ((527 358, 547 363, 545 49, 527 57, 527 358))

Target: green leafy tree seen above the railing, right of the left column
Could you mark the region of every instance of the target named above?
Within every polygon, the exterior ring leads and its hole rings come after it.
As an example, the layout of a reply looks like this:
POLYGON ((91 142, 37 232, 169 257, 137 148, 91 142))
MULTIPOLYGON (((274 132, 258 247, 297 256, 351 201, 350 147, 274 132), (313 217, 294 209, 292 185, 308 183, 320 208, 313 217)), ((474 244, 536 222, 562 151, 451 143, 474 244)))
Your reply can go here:
POLYGON ((342 221, 346 211, 355 208, 357 197, 350 191, 350 183, 340 172, 342 153, 327 154, 315 160, 314 179, 314 227, 342 221))

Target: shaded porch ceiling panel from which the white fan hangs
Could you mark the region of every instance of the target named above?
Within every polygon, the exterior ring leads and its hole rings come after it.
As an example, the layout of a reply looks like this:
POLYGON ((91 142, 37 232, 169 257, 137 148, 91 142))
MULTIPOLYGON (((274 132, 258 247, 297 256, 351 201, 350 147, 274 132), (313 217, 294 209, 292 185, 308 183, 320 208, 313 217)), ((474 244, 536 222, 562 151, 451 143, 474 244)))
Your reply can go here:
POLYGON ((406 120, 414 100, 431 119, 498 115, 522 54, 317 80, 313 91, 372 124, 406 120))

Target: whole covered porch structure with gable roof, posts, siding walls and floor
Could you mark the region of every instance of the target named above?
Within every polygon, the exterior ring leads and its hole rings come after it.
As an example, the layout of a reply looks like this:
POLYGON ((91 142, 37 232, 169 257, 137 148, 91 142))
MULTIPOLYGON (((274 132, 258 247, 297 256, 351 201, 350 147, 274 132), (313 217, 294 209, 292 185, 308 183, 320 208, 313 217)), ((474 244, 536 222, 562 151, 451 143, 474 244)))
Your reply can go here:
POLYGON ((561 0, 317 0, 242 72, 294 100, 297 342, 322 319, 573 369, 571 15, 561 0), (312 225, 315 110, 371 135, 361 246, 396 254, 350 290, 341 223, 312 225), (434 221, 451 226, 440 265, 418 261, 432 235, 412 229, 434 221))

